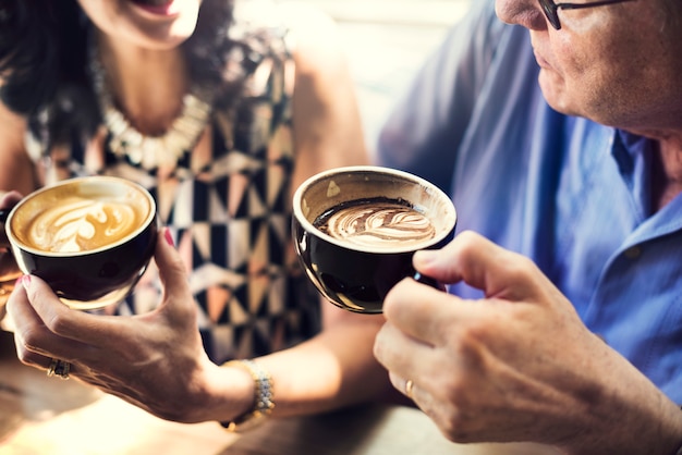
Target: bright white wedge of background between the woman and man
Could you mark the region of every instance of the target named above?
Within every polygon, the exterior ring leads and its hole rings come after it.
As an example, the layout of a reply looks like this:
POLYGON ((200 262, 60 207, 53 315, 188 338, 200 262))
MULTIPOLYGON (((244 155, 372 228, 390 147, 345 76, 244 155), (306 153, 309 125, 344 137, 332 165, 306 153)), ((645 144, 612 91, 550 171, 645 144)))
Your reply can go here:
POLYGON ((309 3, 339 25, 367 145, 426 58, 472 0, 279 0, 309 3))

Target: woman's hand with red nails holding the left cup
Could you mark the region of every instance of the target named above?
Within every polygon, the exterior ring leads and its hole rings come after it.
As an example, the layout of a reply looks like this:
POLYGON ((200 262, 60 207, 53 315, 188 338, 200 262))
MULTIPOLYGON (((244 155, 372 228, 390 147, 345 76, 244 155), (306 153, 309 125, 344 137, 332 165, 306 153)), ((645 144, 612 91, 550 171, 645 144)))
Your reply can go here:
POLYGON ((248 409, 253 380, 208 359, 185 268, 165 238, 155 254, 163 300, 146 315, 72 310, 39 278, 22 278, 8 303, 19 358, 41 369, 69 361, 70 376, 165 419, 228 420, 248 409))

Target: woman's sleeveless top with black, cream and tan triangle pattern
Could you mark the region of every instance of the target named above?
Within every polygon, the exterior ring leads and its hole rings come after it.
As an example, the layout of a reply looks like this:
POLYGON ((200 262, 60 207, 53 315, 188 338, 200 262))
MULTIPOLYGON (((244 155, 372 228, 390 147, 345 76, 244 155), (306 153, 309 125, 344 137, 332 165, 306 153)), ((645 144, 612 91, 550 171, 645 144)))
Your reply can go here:
MULTIPOLYGON (((299 270, 291 241, 294 72, 285 30, 232 28, 259 56, 251 53, 249 65, 231 62, 245 72, 246 90, 229 110, 214 110, 210 157, 187 152, 160 174, 117 156, 108 140, 97 147, 74 140, 48 151, 35 137, 27 140, 46 185, 97 173, 151 192, 188 269, 199 330, 216 362, 279 351, 319 330, 318 298, 299 270)), ((143 313, 160 295, 151 265, 133 295, 107 311, 143 313)))

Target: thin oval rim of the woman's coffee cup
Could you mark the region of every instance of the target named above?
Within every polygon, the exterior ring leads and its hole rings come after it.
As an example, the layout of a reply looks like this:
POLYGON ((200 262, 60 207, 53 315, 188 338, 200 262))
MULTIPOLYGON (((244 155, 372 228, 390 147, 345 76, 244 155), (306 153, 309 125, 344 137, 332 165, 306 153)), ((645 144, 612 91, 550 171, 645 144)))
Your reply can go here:
POLYGON ((10 241, 10 245, 21 248, 22 250, 29 253, 32 255, 50 257, 50 258, 76 258, 76 257, 85 257, 85 256, 95 255, 101 251, 114 249, 118 246, 121 246, 130 242, 132 238, 135 238, 142 232, 147 230, 149 225, 155 221, 156 217, 157 217, 156 200, 154 199, 154 196, 151 196, 149 190, 145 188, 144 186, 142 186, 141 184, 133 182, 131 180, 127 180, 125 177, 119 177, 114 175, 90 175, 90 176, 81 176, 81 177, 72 177, 72 179, 62 180, 54 184, 38 188, 35 192, 32 192, 28 195, 24 196, 14 207, 12 207, 12 210, 8 214, 8 218, 4 222, 4 231, 8 236, 8 239, 10 241), (149 202, 149 213, 147 213, 147 217, 145 218, 144 222, 141 223, 139 226, 137 226, 137 229, 135 229, 133 232, 125 235, 124 237, 119 238, 117 242, 101 246, 99 248, 88 249, 84 251, 47 251, 44 249, 39 249, 33 246, 26 245, 24 242, 17 238, 16 235, 14 235, 14 232, 12 230, 12 219, 14 218, 15 213, 21 209, 21 207, 24 206, 26 202, 28 202, 31 199, 35 198, 36 196, 42 193, 50 192, 61 186, 74 185, 74 184, 77 184, 77 182, 94 181, 94 180, 98 182, 110 181, 119 185, 123 184, 125 186, 134 188, 141 195, 146 197, 149 202))

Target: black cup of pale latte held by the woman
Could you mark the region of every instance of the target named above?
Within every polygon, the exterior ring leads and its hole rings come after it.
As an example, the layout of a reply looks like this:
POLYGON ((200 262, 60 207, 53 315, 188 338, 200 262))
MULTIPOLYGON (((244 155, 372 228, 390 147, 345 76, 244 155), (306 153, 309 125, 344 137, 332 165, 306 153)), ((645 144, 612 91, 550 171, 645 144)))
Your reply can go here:
POLYGON ((74 309, 125 298, 154 254, 156 202, 125 179, 88 176, 24 197, 5 232, 23 273, 45 280, 74 309))

